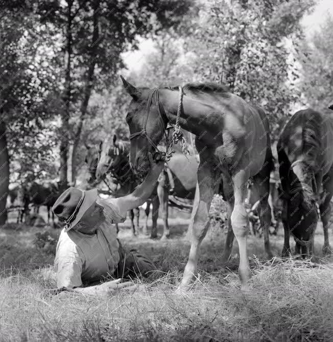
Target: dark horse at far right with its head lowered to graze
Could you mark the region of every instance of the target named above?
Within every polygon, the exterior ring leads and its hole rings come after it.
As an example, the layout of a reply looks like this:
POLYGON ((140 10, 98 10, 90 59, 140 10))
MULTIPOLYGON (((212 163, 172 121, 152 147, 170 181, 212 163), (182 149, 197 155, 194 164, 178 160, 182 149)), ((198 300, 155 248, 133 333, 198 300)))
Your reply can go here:
POLYGON ((311 108, 297 111, 279 136, 277 153, 283 198, 282 256, 289 256, 290 234, 296 254, 313 254, 318 222, 324 230, 323 254, 330 254, 328 221, 333 194, 333 118, 311 108))

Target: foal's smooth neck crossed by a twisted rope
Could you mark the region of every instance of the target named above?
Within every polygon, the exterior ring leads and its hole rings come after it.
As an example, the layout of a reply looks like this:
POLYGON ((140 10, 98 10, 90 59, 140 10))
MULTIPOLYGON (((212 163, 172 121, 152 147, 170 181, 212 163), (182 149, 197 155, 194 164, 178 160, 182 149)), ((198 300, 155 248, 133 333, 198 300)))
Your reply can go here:
MULTIPOLYGON (((167 113, 168 120, 175 124, 177 120, 179 92, 169 89, 160 89, 160 101, 167 113)), ((183 96, 183 110, 180 113, 179 125, 181 128, 200 136, 204 130, 213 130, 217 123, 208 120, 208 114, 214 113, 215 108, 208 104, 183 96)))

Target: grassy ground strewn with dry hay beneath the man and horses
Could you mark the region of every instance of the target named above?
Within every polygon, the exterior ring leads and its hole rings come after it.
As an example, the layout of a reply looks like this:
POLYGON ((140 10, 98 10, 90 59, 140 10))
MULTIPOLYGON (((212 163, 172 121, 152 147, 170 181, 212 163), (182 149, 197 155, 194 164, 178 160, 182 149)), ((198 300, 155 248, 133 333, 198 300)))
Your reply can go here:
MULTIPOLYGON (((270 237, 276 256, 270 261, 262 238, 250 236, 252 278, 250 292, 242 293, 237 243, 231 260, 222 263, 225 234, 213 226, 201 248, 199 279, 188 293, 177 293, 189 250, 188 215, 175 211, 171 217, 175 218, 170 219, 172 233, 167 241, 132 238, 129 220, 120 225, 125 248, 150 256, 164 275, 145 280, 136 291, 107 299, 47 294, 45 290, 55 284, 42 276, 41 269, 53 264, 59 230, 4 227, 0 230, 0 341, 330 340, 333 264, 321 254, 321 227, 315 236, 315 263, 278 258, 282 229, 270 237), (37 242, 36 233, 40 233, 37 242)), ((158 223, 161 229, 160 219, 158 223)))

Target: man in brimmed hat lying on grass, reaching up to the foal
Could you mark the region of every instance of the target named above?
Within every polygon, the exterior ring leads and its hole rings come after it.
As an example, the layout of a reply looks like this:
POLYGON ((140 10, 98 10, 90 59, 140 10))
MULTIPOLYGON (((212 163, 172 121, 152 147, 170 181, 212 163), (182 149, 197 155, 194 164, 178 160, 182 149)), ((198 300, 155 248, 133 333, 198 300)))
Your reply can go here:
POLYGON ((146 257, 126 253, 116 238, 113 223, 124 222, 127 211, 144 204, 151 195, 163 163, 153 162, 145 180, 131 194, 102 199, 97 189, 82 191, 69 188, 54 206, 53 212, 65 223, 56 249, 54 268, 57 273, 56 293, 81 292, 106 295, 116 289, 134 288, 133 282, 122 282, 137 275, 148 276, 156 270, 146 257), (116 279, 113 281, 105 280, 116 279))

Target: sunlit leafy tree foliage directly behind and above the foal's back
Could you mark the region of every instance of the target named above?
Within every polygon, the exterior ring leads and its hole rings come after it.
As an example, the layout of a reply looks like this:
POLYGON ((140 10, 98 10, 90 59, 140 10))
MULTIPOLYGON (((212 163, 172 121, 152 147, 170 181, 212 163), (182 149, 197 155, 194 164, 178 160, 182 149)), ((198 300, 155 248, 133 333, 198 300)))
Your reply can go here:
MULTIPOLYGON (((196 54, 198 80, 216 81, 257 105, 270 118, 273 139, 298 97, 290 83, 286 39, 302 36, 300 19, 313 0, 210 0, 193 21, 187 51, 196 54)), ((297 40, 297 39, 296 39, 297 40)))

